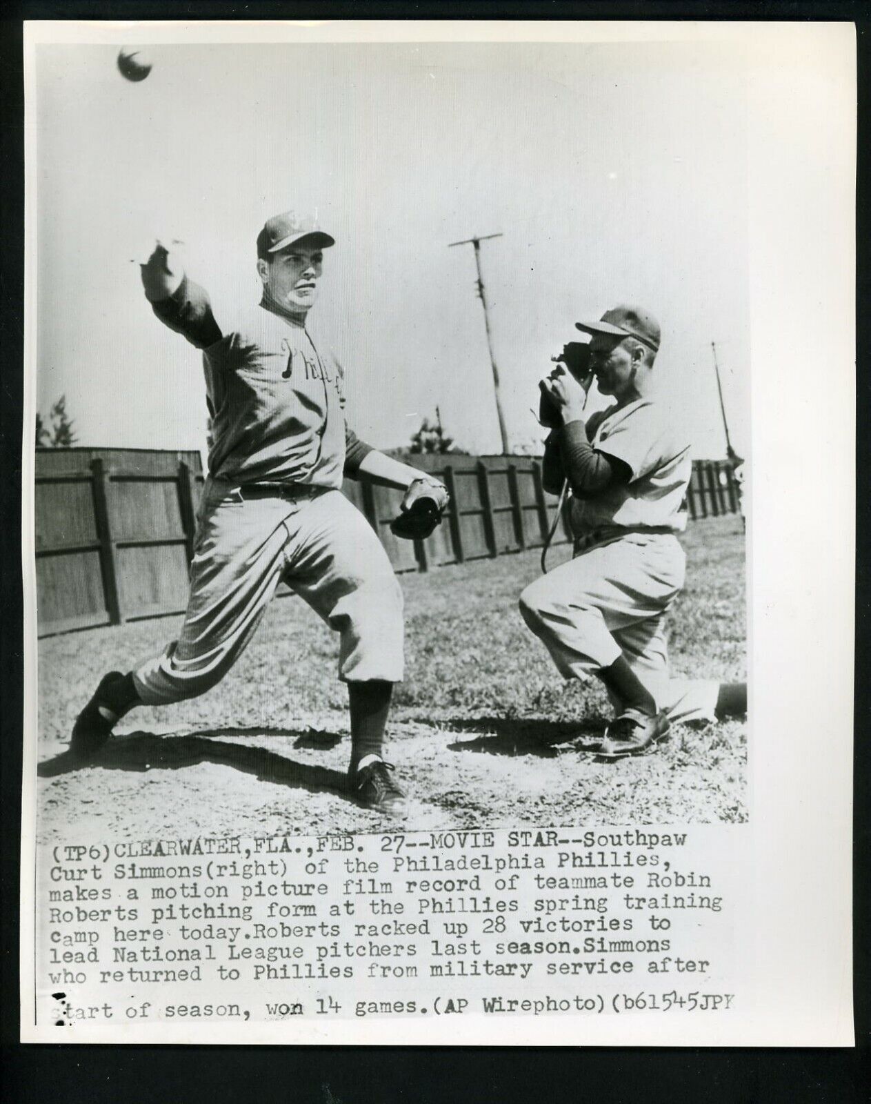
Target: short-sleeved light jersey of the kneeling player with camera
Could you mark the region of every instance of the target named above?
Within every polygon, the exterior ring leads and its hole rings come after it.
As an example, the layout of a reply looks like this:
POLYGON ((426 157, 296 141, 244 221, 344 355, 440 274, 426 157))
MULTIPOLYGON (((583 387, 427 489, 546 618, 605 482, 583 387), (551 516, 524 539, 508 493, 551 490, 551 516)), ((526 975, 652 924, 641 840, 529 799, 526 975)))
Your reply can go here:
POLYGON ((684 497, 692 475, 690 446, 649 399, 606 410, 593 423, 591 445, 630 470, 617 484, 587 498, 572 497, 575 535, 603 526, 683 532, 684 497))

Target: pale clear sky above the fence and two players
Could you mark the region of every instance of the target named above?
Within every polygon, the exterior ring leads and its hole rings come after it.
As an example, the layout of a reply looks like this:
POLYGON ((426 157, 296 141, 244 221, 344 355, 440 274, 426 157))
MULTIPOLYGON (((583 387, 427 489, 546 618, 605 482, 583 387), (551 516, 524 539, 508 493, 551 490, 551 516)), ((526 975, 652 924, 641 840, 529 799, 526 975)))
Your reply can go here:
MULTIPOLYGON (((741 67, 722 45, 160 45, 129 83, 110 45, 36 47, 38 408, 78 444, 199 448, 199 353, 152 316, 138 262, 184 243, 219 322, 259 298, 255 238, 315 211, 327 251, 316 342, 346 368, 348 420, 407 444, 438 407, 456 444, 500 450, 470 246, 511 447, 574 322, 618 302, 662 327, 657 395, 697 457, 750 447, 741 67)), ((589 410, 605 405, 594 396, 589 410)))

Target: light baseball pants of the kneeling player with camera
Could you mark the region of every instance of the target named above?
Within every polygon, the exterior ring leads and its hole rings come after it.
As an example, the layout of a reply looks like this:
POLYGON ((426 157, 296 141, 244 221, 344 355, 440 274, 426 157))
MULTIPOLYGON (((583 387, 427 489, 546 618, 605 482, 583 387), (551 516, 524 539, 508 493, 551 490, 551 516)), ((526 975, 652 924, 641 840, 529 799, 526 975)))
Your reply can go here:
POLYGON ((535 580, 520 612, 564 678, 585 679, 623 655, 672 723, 713 721, 720 683, 669 677, 665 617, 684 572, 676 537, 627 533, 535 580))

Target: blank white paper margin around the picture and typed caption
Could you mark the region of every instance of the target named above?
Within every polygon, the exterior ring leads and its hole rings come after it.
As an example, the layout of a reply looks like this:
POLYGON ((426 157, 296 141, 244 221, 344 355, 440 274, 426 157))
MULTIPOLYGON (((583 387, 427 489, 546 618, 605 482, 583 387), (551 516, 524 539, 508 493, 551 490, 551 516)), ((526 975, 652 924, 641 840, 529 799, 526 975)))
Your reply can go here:
MULTIPOLYGON (((293 1042, 480 1045, 851 1045, 854 576, 856 57, 849 23, 73 22, 24 24, 25 376, 22 1041, 64 1041, 33 1007, 36 631, 33 570, 36 220, 34 47, 40 42, 719 42, 748 82, 752 473, 750 487, 750 914, 754 1012, 702 1019, 340 1020, 293 1042), (824 360, 825 357, 825 360, 824 360), (809 446, 825 445, 810 458, 809 446), (772 995, 776 1000, 772 1000, 772 995), (330 1028, 330 1029, 328 1029, 330 1028), (583 1034, 582 1034, 583 1032, 583 1034)), ((693 829, 698 831, 699 829, 693 829)), ((748 904, 745 901, 745 906, 748 904)), ((287 1043, 288 1025, 78 1028, 81 1042, 287 1043)))

